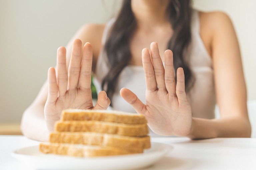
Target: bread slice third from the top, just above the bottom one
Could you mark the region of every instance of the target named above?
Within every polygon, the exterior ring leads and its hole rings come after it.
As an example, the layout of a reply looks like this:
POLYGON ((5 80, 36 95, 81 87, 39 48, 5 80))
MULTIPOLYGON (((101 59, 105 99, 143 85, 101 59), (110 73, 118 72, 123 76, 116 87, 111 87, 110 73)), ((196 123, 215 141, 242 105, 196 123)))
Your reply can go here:
POLYGON ((95 132, 52 132, 49 142, 100 145, 141 151, 150 148, 150 137, 130 137, 95 132))

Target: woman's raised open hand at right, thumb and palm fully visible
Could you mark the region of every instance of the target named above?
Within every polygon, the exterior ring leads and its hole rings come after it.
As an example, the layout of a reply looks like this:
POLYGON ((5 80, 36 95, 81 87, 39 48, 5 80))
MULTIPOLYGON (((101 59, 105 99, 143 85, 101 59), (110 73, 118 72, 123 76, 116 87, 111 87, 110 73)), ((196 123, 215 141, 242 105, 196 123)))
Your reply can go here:
POLYGON ((174 78, 173 54, 164 53, 165 68, 159 55, 158 45, 142 50, 142 62, 146 77, 146 105, 128 89, 121 89, 121 96, 137 113, 146 117, 149 127, 161 135, 187 136, 191 132, 192 111, 185 93, 185 77, 182 68, 177 70, 177 85, 174 78), (153 63, 153 64, 152 64, 153 63))

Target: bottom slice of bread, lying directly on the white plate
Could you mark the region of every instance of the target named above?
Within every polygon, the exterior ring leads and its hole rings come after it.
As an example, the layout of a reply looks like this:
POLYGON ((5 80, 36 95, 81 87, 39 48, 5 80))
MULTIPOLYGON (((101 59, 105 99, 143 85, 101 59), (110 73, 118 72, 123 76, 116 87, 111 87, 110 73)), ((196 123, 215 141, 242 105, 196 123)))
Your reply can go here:
POLYGON ((143 152, 131 152, 125 149, 110 146, 88 146, 66 143, 40 143, 39 150, 43 153, 52 153, 77 157, 124 155, 143 152))

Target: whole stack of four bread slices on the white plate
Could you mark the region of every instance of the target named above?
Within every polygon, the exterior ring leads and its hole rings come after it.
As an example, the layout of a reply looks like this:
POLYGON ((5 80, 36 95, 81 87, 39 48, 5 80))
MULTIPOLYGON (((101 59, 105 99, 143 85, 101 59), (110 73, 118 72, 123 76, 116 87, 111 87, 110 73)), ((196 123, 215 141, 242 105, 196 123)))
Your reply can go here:
POLYGON ((150 148, 143 115, 106 110, 63 110, 40 151, 78 157, 142 153, 150 148))

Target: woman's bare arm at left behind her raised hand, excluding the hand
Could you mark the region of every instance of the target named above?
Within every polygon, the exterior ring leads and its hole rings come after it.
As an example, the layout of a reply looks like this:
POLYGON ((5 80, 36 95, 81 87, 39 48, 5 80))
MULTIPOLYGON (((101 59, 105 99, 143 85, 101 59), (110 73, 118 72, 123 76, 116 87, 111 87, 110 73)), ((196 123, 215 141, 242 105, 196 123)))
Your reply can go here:
MULTIPOLYGON (((89 24, 82 26, 78 32, 73 36, 71 41, 67 45, 66 52, 66 65, 69 67, 71 58, 72 42, 74 39, 80 39, 82 45, 85 42, 91 42, 93 45, 93 67, 95 70, 95 64, 97 57, 101 49, 101 37, 103 33, 104 25, 89 24)), ((46 127, 44 117, 44 106, 48 96, 48 81, 43 84, 40 92, 33 103, 24 111, 21 120, 21 131, 22 133, 32 139, 47 141, 48 130, 46 127)))

